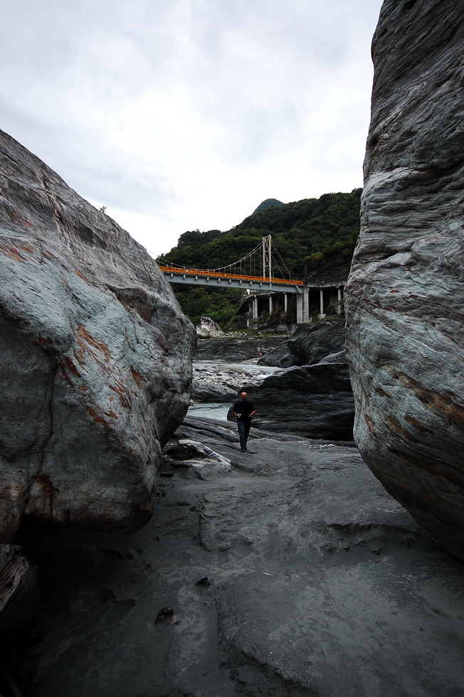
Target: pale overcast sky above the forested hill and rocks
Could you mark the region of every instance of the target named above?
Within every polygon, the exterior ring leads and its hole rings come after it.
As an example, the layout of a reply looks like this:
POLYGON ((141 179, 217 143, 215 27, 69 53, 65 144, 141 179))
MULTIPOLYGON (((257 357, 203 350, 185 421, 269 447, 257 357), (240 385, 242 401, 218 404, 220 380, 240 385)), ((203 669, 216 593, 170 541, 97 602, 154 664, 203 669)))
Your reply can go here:
POLYGON ((154 255, 362 186, 381 0, 0 0, 0 127, 154 255))

